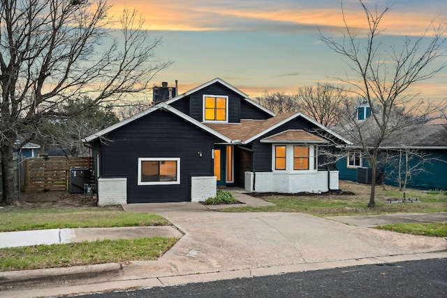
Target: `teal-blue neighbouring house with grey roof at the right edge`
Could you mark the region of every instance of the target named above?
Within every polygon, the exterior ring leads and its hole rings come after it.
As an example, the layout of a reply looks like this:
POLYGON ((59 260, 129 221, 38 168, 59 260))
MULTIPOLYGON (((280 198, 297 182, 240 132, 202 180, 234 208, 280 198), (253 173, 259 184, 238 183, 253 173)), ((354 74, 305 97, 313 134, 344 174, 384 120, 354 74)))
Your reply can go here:
MULTIPOLYGON (((365 121, 370 123, 362 126, 362 137, 365 143, 372 143, 376 126, 372 119, 365 121)), ((355 140, 350 141, 353 145, 344 146, 346 155, 337 161, 339 178, 371 183, 365 154, 355 140)), ((399 186, 406 176, 406 187, 447 190, 447 125, 419 124, 396 130, 381 143, 378 162, 379 182, 399 186)))

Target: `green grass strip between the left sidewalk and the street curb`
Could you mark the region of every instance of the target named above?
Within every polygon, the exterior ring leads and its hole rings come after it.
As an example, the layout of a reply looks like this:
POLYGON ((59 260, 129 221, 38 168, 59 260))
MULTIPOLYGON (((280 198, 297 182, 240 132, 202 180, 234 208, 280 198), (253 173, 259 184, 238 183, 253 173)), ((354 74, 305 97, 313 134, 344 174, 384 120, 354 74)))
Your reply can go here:
POLYGON ((150 237, 0 249, 0 271, 156 260, 177 239, 150 237))

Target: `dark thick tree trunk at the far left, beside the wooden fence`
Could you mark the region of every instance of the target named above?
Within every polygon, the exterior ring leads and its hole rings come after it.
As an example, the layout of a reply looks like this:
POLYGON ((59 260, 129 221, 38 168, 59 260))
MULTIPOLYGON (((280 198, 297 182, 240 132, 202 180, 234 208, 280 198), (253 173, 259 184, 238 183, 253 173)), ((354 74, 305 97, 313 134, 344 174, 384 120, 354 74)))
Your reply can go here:
POLYGON ((3 201, 2 205, 20 205, 17 189, 14 183, 13 146, 2 144, 1 166, 3 170, 3 201))

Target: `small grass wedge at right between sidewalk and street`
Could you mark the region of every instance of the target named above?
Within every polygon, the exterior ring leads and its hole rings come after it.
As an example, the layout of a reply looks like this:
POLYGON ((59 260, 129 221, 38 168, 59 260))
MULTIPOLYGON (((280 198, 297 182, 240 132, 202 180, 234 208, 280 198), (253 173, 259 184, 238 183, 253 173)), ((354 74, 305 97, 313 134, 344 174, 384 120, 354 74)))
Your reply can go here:
POLYGON ((405 234, 447 237, 447 222, 407 222, 381 225, 376 227, 376 229, 386 229, 405 234))

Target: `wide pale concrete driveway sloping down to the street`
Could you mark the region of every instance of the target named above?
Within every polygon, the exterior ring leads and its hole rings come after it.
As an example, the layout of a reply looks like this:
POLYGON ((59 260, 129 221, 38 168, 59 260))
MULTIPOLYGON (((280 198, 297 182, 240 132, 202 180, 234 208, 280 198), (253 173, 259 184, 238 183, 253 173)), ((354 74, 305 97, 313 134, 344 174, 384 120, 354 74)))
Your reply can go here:
MULTIPOLYGON (((221 213, 197 203, 177 203, 175 208, 170 204, 131 204, 124 208, 130 212, 162 215, 185 234, 159 260, 133 263, 133 269, 149 266, 157 276, 360 260, 447 249, 447 242, 442 238, 355 227, 303 213, 221 213)), ((151 272, 145 271, 145 274, 151 272)))

